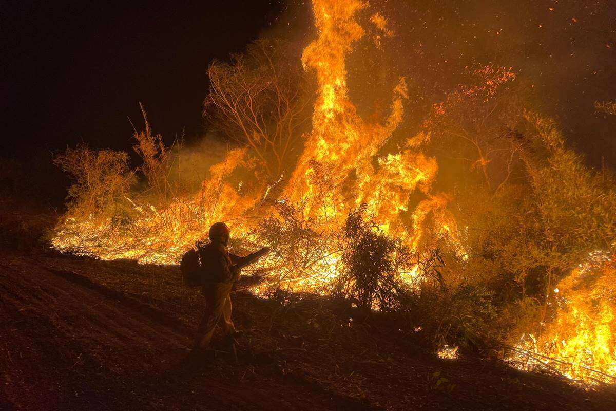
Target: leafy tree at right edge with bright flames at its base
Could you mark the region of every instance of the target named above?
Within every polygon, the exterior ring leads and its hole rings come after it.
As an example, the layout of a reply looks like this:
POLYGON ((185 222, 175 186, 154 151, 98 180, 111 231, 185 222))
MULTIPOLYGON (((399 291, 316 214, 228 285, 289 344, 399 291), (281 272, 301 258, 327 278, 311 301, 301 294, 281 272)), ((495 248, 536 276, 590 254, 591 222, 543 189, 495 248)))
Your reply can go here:
POLYGON ((522 339, 523 356, 536 354, 539 364, 570 378, 613 383, 616 304, 607 284, 614 275, 616 191, 565 147, 553 121, 527 120, 531 140, 522 158, 535 201, 522 209, 525 246, 506 255, 522 285, 535 275, 543 304, 541 322, 522 339))

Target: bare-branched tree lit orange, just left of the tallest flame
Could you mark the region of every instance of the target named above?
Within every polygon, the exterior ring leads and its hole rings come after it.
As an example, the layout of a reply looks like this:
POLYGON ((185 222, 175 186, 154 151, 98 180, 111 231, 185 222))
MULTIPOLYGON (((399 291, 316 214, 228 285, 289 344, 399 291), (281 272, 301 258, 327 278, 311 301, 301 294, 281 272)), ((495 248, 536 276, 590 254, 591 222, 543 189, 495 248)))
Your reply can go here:
POLYGON ((271 182, 289 169, 310 118, 312 87, 290 44, 259 39, 232 63, 208 69, 203 115, 230 139, 248 145, 271 182))

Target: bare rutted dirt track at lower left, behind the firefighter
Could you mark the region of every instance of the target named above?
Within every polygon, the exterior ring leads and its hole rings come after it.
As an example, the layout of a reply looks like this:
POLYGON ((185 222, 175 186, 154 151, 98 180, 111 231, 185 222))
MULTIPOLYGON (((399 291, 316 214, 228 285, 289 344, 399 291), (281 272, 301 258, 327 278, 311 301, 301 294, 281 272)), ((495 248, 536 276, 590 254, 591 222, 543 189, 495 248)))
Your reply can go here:
POLYGON ((2 255, 0 409, 366 408, 275 370, 193 370, 181 322, 68 276, 2 255))

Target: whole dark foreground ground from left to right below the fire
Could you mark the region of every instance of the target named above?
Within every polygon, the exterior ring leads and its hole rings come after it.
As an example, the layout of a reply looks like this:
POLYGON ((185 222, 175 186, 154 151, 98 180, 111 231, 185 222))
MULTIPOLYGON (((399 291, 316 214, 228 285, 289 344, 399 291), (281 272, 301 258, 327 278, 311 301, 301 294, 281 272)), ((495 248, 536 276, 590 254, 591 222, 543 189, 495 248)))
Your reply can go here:
POLYGON ((0 250, 0 409, 616 409, 613 390, 440 360, 316 297, 233 301, 237 359, 197 367, 203 299, 175 267, 0 250))

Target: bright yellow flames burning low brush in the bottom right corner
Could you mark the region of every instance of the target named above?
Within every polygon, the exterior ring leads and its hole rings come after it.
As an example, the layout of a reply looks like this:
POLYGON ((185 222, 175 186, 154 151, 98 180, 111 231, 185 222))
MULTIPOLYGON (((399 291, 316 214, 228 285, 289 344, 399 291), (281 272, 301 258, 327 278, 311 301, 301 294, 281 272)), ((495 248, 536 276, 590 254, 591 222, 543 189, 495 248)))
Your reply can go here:
POLYGON ((578 381, 615 383, 614 254, 593 253, 557 283, 550 321, 524 334, 509 357, 523 369, 547 367, 578 381))

